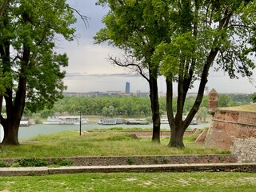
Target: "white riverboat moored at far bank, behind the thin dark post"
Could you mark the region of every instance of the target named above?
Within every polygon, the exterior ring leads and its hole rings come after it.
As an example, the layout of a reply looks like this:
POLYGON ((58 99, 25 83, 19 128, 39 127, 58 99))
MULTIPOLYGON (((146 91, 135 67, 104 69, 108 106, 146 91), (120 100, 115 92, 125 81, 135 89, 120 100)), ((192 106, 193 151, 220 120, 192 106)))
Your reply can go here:
MULTIPOLYGON (((87 120, 81 118, 81 124, 86 124, 87 120)), ((47 121, 42 122, 44 125, 79 125, 80 116, 61 116, 61 117, 48 117, 47 121)))

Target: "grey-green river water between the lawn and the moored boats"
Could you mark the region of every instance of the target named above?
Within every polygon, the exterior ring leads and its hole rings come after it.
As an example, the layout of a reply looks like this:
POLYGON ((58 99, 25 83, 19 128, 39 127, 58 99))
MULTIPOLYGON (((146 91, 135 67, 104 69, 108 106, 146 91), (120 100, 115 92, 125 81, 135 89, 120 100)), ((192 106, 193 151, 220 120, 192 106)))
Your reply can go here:
MULTIPOLYGON (((190 128, 205 128, 209 126, 209 123, 200 123, 198 125, 190 125, 190 128)), ((93 129, 106 129, 111 127, 123 127, 123 128, 152 128, 152 124, 150 125, 110 125, 110 126, 103 126, 98 125, 96 123, 87 123, 81 125, 81 130, 93 130, 93 129)), ((162 124, 161 129, 167 129, 170 130, 168 124, 162 124)), ((31 138, 34 136, 37 136, 39 134, 51 134, 56 133, 62 130, 80 130, 80 125, 42 125, 42 124, 36 124, 32 126, 21 126, 18 131, 18 139, 26 139, 31 138)), ((3 138, 3 130, 2 126, 0 126, 0 142, 2 142, 3 138)))

